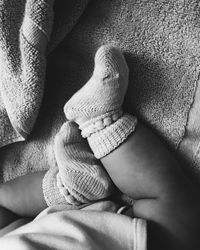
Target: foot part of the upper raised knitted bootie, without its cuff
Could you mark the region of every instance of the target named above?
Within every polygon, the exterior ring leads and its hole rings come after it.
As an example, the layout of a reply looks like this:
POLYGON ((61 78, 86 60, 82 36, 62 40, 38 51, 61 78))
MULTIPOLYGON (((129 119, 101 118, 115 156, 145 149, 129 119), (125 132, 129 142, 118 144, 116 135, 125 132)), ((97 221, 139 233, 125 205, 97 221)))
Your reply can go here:
POLYGON ((118 48, 101 46, 89 81, 65 104, 68 120, 84 126, 92 118, 119 113, 128 87, 128 66, 118 48))

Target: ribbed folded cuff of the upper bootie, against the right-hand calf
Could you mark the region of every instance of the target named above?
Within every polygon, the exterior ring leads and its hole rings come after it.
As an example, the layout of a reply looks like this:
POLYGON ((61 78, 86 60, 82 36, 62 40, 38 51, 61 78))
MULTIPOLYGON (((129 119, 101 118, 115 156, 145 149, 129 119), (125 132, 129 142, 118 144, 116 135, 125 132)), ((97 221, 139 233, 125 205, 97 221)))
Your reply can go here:
POLYGON ((135 130, 137 118, 124 114, 110 126, 91 134, 87 139, 95 157, 100 159, 116 149, 135 130))

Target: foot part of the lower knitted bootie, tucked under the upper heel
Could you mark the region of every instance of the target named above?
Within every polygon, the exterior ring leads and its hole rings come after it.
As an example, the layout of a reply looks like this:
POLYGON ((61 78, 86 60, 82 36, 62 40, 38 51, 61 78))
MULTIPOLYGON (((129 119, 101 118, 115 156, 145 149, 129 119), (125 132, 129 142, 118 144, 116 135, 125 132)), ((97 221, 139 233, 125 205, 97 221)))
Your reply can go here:
POLYGON ((111 194, 111 179, 74 122, 63 124, 55 137, 54 152, 57 186, 69 204, 89 203, 111 194))

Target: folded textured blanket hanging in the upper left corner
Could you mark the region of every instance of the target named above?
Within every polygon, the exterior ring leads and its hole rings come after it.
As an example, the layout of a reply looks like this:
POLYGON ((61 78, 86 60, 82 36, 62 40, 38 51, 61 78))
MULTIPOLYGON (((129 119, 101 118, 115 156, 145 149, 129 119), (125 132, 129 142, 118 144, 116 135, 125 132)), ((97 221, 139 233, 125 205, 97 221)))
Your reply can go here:
MULTIPOLYGON (((61 1, 62 2, 62 1, 61 1)), ((68 1, 65 27, 53 25, 54 0, 2 0, 0 3, 0 147, 23 141, 35 124, 43 97, 46 47, 52 51, 74 25, 88 1, 68 1), (62 30, 60 30, 62 28, 62 30)), ((59 3, 60 6, 63 3, 59 3)))

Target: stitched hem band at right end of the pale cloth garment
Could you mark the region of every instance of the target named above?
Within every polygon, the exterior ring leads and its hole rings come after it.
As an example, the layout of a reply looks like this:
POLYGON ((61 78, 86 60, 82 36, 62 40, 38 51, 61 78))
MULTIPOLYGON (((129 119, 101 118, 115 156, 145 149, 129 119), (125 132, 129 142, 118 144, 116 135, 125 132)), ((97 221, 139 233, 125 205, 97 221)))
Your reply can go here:
POLYGON ((147 221, 133 219, 133 250, 147 250, 147 221))

